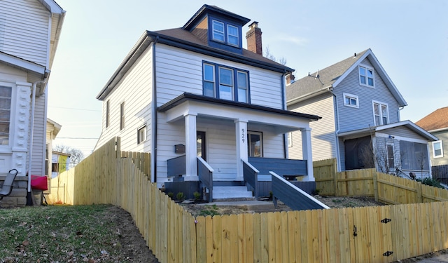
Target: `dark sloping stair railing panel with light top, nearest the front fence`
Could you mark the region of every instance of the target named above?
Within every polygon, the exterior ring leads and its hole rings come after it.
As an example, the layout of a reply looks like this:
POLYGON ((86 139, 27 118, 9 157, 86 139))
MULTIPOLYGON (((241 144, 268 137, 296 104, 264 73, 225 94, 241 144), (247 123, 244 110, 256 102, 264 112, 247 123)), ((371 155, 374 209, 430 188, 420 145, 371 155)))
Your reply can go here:
POLYGON ((299 187, 286 181, 274 172, 272 175, 272 201, 277 206, 277 198, 293 210, 330 209, 327 205, 310 196, 299 187))

